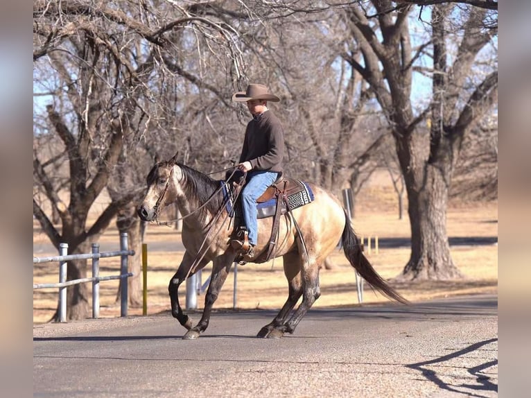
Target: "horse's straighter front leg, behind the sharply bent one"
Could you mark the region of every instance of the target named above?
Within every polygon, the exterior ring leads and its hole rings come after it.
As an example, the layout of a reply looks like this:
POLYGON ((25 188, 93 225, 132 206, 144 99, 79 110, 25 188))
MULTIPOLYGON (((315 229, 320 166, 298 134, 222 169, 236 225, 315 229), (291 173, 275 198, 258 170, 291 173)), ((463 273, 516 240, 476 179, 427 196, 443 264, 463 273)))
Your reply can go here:
POLYGON ((201 320, 198 322, 198 325, 195 325, 195 327, 192 327, 186 332, 186 334, 183 336, 184 340, 193 340, 198 338, 199 335, 209 326, 212 306, 214 306, 214 302, 216 302, 218 299, 221 288, 227 279, 227 275, 229 275, 229 270, 232 266, 232 262, 234 261, 234 257, 234 253, 225 253, 214 259, 209 288, 207 289, 207 295, 204 297, 204 309, 201 320))

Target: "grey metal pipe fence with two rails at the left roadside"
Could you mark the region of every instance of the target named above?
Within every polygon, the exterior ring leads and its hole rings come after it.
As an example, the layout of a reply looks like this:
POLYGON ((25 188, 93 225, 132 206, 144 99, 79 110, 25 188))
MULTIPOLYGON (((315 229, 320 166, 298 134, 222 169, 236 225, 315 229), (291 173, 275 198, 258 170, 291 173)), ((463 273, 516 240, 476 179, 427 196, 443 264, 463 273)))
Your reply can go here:
MULTIPOLYGON (((92 318, 99 318, 100 315, 100 282, 112 279, 126 280, 132 277, 133 273, 128 272, 128 256, 134 256, 134 250, 128 250, 128 234, 120 234, 120 250, 117 252, 99 252, 99 243, 92 243, 92 253, 68 254, 68 244, 60 243, 59 255, 55 257, 33 257, 33 263, 59 262, 59 283, 58 284, 33 284, 33 289, 59 288, 59 321, 66 322, 67 319, 67 286, 92 282, 92 318), (100 261, 103 257, 121 257, 120 275, 99 276, 100 261), (92 259, 92 277, 74 279, 67 282, 67 261, 92 259)), ((128 284, 121 284, 120 289, 120 315, 128 315, 128 284)))

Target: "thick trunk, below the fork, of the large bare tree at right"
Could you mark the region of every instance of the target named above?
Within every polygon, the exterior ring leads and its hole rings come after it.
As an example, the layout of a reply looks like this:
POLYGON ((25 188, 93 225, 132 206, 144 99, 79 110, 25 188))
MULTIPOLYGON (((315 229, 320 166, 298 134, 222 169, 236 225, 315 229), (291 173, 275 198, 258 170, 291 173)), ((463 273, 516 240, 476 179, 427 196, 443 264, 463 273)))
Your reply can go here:
POLYGON ((420 189, 408 189, 411 257, 398 279, 446 280, 463 277, 455 267, 446 234, 449 171, 426 165, 420 189))

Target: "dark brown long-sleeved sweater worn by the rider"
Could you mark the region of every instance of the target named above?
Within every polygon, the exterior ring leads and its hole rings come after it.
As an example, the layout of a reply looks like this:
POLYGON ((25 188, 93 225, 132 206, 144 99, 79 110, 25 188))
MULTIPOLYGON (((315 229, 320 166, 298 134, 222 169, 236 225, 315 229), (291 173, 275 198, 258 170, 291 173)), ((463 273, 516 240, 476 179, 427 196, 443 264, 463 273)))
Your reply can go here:
POLYGON ((253 170, 282 171, 284 129, 270 110, 252 119, 245 129, 240 163, 251 162, 253 170))

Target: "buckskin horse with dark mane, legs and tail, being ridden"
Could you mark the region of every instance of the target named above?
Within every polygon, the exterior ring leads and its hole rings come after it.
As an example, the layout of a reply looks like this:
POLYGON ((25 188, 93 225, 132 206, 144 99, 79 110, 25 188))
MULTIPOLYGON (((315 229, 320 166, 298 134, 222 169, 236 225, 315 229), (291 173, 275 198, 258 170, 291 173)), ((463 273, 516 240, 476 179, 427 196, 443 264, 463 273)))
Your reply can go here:
MULTIPOLYGON (((182 338, 195 339, 207 329, 214 302, 238 256, 238 250, 230 244, 234 223, 228 214, 231 210, 227 209, 226 195, 220 189, 223 180, 214 180, 177 163, 177 155, 168 161, 156 161, 146 180, 146 195, 137 207, 141 220, 157 221, 160 211, 175 202, 182 215, 182 243, 186 250, 177 272, 170 279, 168 293, 171 314, 187 329, 182 338), (189 315, 182 311, 177 292, 187 277, 210 261, 212 272, 202 317, 193 326, 189 315)), ((281 215, 274 257, 283 258, 288 298, 275 318, 256 334, 259 338, 293 334, 308 309, 320 297, 320 268, 339 242, 351 266, 372 288, 390 300, 408 304, 408 300, 378 275, 363 254, 360 240, 338 198, 316 184, 308 183, 308 186, 313 191, 314 200, 281 215), (292 313, 301 296, 302 302, 292 313)), ((259 242, 254 258, 249 262, 256 262, 261 257, 272 230, 272 218, 258 221, 259 242)))

